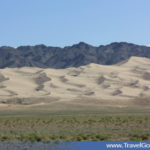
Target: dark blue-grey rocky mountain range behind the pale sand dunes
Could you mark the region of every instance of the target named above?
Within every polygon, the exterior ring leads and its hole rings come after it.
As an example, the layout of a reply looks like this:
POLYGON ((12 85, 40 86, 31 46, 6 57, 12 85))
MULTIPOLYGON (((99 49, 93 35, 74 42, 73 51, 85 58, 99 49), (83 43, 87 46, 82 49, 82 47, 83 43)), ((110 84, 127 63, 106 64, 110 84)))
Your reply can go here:
POLYGON ((111 43, 94 47, 84 42, 64 48, 45 45, 0 47, 0 68, 68 68, 89 63, 112 65, 131 56, 150 58, 150 47, 131 43, 111 43))

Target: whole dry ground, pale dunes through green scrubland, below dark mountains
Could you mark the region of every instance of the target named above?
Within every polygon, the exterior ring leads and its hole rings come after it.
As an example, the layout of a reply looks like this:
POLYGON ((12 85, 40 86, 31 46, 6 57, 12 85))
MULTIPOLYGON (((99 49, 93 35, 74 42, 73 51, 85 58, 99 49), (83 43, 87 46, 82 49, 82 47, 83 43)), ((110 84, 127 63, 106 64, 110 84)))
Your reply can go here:
POLYGON ((1 69, 0 140, 149 140, 149 66, 1 69))

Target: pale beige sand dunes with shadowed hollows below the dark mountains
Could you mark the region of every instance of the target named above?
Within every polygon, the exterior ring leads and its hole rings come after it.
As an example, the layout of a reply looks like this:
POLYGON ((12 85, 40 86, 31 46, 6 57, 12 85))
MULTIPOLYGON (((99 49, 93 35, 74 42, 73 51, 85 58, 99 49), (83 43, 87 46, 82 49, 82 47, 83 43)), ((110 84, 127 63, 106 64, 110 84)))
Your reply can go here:
MULTIPOLYGON (((150 97, 150 59, 79 68, 6 68, 0 70, 0 106, 72 102, 126 106, 150 97)), ((146 104, 149 101, 146 101, 146 104)))

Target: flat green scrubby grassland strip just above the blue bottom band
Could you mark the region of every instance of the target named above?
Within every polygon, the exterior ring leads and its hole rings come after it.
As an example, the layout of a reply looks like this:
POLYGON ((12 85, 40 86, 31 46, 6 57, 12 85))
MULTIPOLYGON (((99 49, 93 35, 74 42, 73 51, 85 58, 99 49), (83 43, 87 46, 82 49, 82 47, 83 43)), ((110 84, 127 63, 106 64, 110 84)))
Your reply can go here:
POLYGON ((0 141, 150 140, 148 114, 1 116, 0 141))

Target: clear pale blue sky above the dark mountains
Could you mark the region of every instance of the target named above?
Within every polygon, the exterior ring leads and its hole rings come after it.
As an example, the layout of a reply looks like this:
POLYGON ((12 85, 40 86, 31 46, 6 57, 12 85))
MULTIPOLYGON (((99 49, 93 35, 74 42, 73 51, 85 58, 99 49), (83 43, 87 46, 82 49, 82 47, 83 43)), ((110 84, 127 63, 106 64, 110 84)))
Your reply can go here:
POLYGON ((150 44, 150 0, 0 0, 0 46, 150 44))

